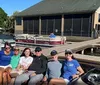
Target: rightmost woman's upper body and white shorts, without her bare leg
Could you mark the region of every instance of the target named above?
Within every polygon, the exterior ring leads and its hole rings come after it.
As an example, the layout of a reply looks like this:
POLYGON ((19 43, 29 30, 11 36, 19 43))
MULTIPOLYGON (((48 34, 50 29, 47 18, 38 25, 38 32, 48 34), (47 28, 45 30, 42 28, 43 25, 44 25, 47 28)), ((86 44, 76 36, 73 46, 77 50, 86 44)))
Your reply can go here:
POLYGON ((71 49, 65 50, 65 61, 63 66, 63 72, 64 73, 62 77, 64 78, 66 83, 70 82, 72 79, 77 78, 84 73, 79 62, 74 58, 71 49))

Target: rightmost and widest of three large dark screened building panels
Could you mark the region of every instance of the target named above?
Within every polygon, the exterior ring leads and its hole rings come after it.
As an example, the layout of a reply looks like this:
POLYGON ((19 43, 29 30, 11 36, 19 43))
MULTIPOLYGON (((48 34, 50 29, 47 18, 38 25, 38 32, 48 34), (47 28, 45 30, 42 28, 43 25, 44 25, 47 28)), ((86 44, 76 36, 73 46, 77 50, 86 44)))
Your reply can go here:
POLYGON ((91 37, 92 14, 65 15, 64 35, 91 37))

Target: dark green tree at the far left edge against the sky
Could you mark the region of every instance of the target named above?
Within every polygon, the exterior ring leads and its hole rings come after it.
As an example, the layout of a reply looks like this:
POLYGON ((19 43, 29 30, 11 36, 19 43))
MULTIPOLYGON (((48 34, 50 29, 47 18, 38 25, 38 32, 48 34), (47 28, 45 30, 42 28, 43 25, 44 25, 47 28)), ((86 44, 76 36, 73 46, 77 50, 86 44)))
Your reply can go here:
POLYGON ((4 22, 7 19, 7 14, 4 12, 4 10, 0 7, 0 27, 4 28, 4 22))

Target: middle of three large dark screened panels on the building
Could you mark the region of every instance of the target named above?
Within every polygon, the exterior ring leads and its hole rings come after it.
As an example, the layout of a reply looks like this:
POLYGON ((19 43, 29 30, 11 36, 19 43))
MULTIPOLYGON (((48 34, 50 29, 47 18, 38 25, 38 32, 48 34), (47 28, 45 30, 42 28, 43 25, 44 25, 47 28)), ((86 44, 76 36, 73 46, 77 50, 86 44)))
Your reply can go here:
POLYGON ((61 15, 56 16, 41 16, 41 34, 61 35, 61 15))

